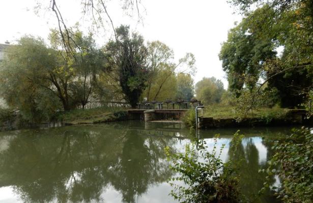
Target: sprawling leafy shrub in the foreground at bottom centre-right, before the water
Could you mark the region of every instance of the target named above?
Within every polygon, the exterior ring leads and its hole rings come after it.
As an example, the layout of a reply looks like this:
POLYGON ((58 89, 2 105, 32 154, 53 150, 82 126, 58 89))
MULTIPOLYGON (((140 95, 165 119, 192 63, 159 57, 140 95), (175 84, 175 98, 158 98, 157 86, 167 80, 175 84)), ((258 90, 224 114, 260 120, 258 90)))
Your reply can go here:
MULTIPOLYGON (((234 148, 241 143, 242 137, 238 132, 234 134, 234 148)), ((165 148, 168 159, 172 161, 172 169, 178 173, 178 177, 170 179, 170 185, 174 187, 170 194, 179 202, 245 201, 239 191, 238 168, 232 160, 223 164, 220 155, 225 145, 217 151, 216 143, 217 137, 212 152, 205 143, 199 150, 195 144, 187 144, 184 153, 171 153, 169 148, 165 148)))

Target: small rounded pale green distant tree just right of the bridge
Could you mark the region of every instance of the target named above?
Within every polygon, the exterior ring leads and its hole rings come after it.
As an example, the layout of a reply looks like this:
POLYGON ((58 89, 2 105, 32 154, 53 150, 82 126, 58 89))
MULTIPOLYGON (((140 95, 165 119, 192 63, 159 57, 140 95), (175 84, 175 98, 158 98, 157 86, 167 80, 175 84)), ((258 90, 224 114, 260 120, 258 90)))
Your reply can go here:
POLYGON ((216 80, 214 77, 204 77, 201 81, 195 84, 196 98, 201 100, 205 105, 220 103, 224 91, 222 81, 216 80))

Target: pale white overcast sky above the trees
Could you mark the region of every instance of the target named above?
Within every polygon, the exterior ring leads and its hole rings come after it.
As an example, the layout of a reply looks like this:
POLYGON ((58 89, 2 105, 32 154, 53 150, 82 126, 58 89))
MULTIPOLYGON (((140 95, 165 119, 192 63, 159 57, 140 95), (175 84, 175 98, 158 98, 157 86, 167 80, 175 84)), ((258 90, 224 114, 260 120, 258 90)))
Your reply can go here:
MULTIPOLYGON (((50 0, 42 0, 43 6, 49 6, 50 0)), ((90 21, 82 18, 79 0, 56 1, 67 25, 79 22, 81 29, 88 31, 90 21)), ((225 73, 218 58, 221 43, 227 40, 227 31, 241 16, 234 14, 226 0, 141 0, 139 11, 143 16, 138 23, 137 15, 129 18, 120 9, 120 1, 107 2, 107 10, 115 27, 129 24, 133 31, 139 32, 146 41, 159 40, 172 48, 175 59, 191 52, 195 55, 197 73, 196 82, 203 77, 215 77, 222 80, 227 88, 225 73)), ((49 10, 40 10, 35 14, 36 0, 0 1, 0 43, 16 40, 23 35, 39 36, 47 40, 50 28, 55 28, 56 18, 49 10)), ((112 37, 112 29, 97 32, 96 41, 102 46, 112 37)))

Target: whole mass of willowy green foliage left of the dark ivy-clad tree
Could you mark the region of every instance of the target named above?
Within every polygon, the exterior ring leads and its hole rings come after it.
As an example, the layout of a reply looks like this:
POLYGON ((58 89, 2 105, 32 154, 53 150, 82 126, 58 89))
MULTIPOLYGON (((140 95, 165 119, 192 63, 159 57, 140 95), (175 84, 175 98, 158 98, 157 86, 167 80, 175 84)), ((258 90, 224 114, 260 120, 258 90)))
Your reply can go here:
MULTIPOLYGON (((49 48, 42 39, 25 36, 10 46, 1 63, 0 92, 10 108, 18 109, 26 120, 51 120, 60 111, 86 105, 94 93, 105 58, 91 35, 79 30, 75 38, 75 55, 59 50, 62 40, 51 30, 49 48)), ((74 53, 74 52, 73 52, 74 53)))

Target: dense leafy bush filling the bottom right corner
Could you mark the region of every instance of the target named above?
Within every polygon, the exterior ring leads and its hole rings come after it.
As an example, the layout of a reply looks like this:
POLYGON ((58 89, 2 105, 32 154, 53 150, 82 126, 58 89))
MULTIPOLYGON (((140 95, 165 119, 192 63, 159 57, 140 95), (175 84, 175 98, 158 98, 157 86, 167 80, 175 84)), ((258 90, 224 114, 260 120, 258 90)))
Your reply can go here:
MULTIPOLYGON (((275 141, 274 155, 266 173, 281 178, 276 189, 283 202, 311 202, 313 199, 313 134, 308 128, 293 129, 292 134, 275 141)), ((264 173, 264 170, 262 171, 264 173)), ((268 183, 265 186, 269 187, 268 183)))

